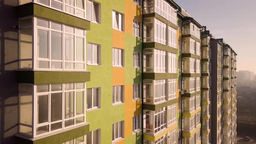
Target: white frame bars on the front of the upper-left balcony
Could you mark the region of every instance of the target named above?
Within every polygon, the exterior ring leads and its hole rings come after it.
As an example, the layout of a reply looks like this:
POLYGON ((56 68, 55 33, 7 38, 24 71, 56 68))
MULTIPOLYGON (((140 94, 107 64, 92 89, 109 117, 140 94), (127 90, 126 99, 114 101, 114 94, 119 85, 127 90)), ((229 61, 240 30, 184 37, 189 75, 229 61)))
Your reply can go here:
POLYGON ((78 70, 86 70, 86 62, 85 62, 85 59, 86 59, 86 56, 85 56, 85 50, 86 50, 86 46, 85 46, 85 41, 86 41, 86 32, 85 30, 83 29, 80 29, 80 30, 83 30, 84 31, 84 35, 81 36, 81 35, 78 35, 76 34, 76 29, 75 27, 71 27, 71 26, 66 26, 64 24, 61 24, 62 25, 62 31, 59 31, 59 30, 56 30, 56 29, 51 29, 51 24, 52 23, 55 23, 55 22, 52 22, 52 21, 49 21, 49 20, 45 20, 45 21, 48 21, 49 22, 49 28, 46 28, 46 27, 42 27, 42 26, 37 26, 36 23, 37 23, 37 19, 40 19, 40 20, 44 20, 44 19, 41 19, 41 18, 36 18, 36 17, 33 17, 33 68, 32 69, 38 69, 38 70, 52 70, 52 71, 58 71, 58 70, 63 70, 63 71, 78 71, 78 70), (74 33, 67 33, 65 32, 65 27, 71 27, 74 29, 74 33), (40 30, 44 30, 44 31, 48 31, 48 58, 39 58, 37 56, 37 30, 40 29, 40 30), (54 31, 54 32, 59 32, 59 33, 62 33, 62 60, 53 60, 51 59, 51 32, 54 31), (69 35, 72 35, 74 36, 74 61, 69 61, 69 60, 65 60, 65 35, 66 34, 69 34, 69 35), (76 38, 82 38, 83 39, 83 61, 78 61, 76 60, 76 38), (49 62, 49 68, 37 68, 37 61, 45 61, 45 62, 49 62), (62 62, 62 69, 52 69, 51 68, 51 62, 62 62), (65 68, 65 63, 66 62, 73 62, 74 63, 74 69, 66 69, 65 68), (84 69, 76 69, 76 64, 84 64, 84 69))

